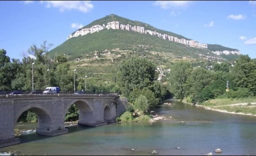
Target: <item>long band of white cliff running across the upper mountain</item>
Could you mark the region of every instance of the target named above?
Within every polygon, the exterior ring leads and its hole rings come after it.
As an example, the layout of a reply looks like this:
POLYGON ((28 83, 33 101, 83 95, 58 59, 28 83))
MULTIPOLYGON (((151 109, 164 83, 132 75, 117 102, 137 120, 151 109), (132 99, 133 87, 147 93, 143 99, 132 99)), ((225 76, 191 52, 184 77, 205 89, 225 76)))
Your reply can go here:
POLYGON ((74 34, 71 34, 67 37, 67 39, 71 39, 73 37, 77 37, 79 35, 83 36, 83 35, 87 35, 88 33, 94 33, 94 32, 99 32, 100 30, 103 29, 121 29, 121 30, 128 30, 128 31, 135 31, 141 34, 150 34, 152 36, 157 36, 159 38, 171 41, 171 42, 177 42, 177 43, 181 43, 181 44, 185 44, 189 47, 194 47, 194 48, 206 48, 207 49, 207 44, 206 43, 199 43, 197 41, 194 40, 186 40, 186 39, 179 39, 177 37, 174 36, 170 36, 167 34, 161 34, 159 32, 156 31, 152 31, 152 30, 145 30, 145 28, 143 26, 131 26, 129 24, 124 25, 124 24, 120 24, 118 21, 112 21, 112 22, 108 22, 106 24, 106 26, 103 24, 101 25, 95 25, 92 26, 91 28, 84 28, 82 30, 77 30, 74 34))

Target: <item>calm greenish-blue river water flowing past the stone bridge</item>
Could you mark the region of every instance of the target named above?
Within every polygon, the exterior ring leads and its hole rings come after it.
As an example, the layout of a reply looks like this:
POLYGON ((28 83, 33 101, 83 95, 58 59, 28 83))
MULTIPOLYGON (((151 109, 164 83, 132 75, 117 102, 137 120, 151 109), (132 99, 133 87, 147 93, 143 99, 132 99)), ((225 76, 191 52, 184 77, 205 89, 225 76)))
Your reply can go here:
MULTIPOLYGON (((155 112, 170 120, 74 126, 68 134, 19 136, 21 144, 0 148, 24 155, 256 155, 256 117, 220 113, 173 101, 155 112), (170 116, 172 118, 170 118, 170 116), (177 149, 180 147, 180 149, 177 149), (135 151, 132 151, 134 148, 135 151), (214 153, 221 148, 222 153, 214 153)), ((37 123, 17 123, 35 129, 37 123)))

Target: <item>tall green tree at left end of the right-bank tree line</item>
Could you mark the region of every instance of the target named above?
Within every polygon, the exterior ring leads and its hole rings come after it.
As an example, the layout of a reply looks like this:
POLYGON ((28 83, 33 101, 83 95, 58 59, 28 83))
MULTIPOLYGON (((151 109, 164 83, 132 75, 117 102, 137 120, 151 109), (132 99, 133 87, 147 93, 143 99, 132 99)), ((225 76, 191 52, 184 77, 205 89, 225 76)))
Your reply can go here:
POLYGON ((176 99, 185 97, 185 82, 192 71, 189 62, 178 62, 174 64, 170 72, 171 89, 176 99))

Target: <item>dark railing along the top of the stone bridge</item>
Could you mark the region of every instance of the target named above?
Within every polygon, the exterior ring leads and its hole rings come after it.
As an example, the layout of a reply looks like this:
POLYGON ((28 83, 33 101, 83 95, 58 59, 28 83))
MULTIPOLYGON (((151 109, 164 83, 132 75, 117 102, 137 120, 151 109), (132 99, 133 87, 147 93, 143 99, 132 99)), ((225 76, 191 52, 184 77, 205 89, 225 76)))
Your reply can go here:
POLYGON ((59 91, 57 92, 50 92, 50 93, 43 93, 44 90, 15 90, 15 91, 0 91, 0 95, 15 95, 15 94, 93 94, 93 95, 116 95, 118 93, 114 92, 105 92, 105 91, 59 91))

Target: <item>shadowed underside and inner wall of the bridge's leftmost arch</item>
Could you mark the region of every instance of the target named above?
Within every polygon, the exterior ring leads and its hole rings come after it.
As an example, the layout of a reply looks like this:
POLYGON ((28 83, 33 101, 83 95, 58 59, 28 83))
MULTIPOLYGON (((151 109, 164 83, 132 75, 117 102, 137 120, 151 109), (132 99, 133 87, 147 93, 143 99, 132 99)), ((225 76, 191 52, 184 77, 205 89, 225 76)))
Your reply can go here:
POLYGON ((36 114, 36 116, 38 118, 37 130, 49 130, 49 128, 48 128, 49 124, 52 122, 50 114, 49 114, 49 110, 47 110, 40 104, 29 104, 26 107, 23 107, 22 109, 20 109, 18 111, 18 113, 15 114, 14 125, 17 123, 18 118, 22 115, 22 113, 29 109, 31 109, 36 114))

